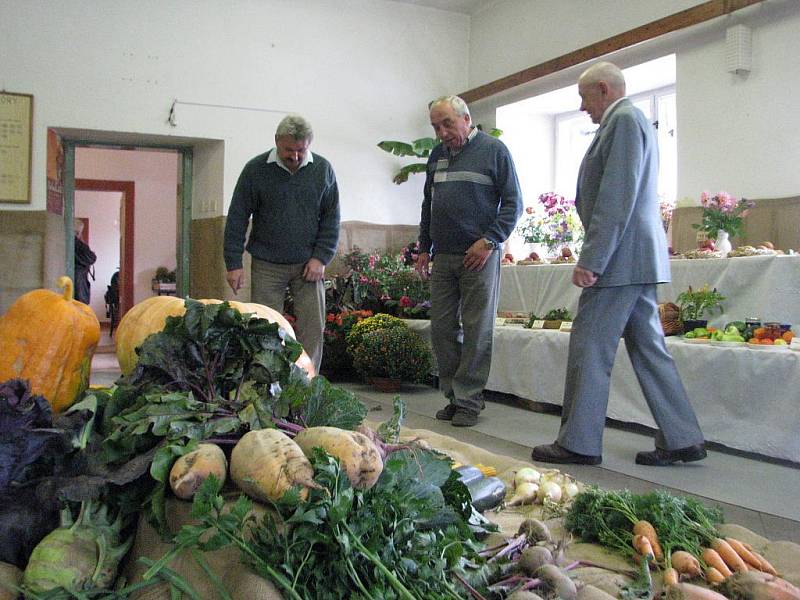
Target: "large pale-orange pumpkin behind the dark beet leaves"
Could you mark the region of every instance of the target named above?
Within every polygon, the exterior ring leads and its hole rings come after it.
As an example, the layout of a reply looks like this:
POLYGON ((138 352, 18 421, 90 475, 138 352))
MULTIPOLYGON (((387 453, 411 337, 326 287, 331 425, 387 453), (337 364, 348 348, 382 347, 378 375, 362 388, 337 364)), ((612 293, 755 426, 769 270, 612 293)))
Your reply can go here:
MULTIPOLYGON (((203 304, 220 304, 223 301, 213 298, 199 300, 203 304)), ((228 303, 240 313, 253 313, 256 317, 266 319, 270 323, 277 323, 286 333, 295 337, 294 329, 289 322, 278 311, 252 302, 237 302, 229 300, 228 303)), ((174 296, 153 296, 143 300, 131 308, 117 327, 117 361, 123 375, 127 375, 136 366, 138 356, 136 348, 139 347, 145 338, 150 334, 157 333, 164 329, 167 317, 178 317, 186 312, 184 300, 174 296)), ((310 377, 316 375, 314 363, 311 362, 305 350, 295 361, 298 367, 305 369, 310 377)))

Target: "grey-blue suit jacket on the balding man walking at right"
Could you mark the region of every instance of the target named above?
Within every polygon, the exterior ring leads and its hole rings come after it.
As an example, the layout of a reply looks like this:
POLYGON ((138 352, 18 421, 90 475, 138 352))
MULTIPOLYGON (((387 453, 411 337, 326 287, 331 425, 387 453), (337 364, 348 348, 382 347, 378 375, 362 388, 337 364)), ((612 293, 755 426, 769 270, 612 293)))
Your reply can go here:
POLYGON ((586 235, 578 264, 595 285, 670 280, 658 202, 653 125, 627 98, 600 125, 578 173, 575 206, 586 235))

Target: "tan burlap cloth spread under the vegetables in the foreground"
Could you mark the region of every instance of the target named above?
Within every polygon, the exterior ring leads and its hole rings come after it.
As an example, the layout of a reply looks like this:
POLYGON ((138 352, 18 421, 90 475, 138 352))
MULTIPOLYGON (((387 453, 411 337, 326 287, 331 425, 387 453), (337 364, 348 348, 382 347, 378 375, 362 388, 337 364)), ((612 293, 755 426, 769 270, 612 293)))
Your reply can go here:
MULTIPOLYGON (((404 429, 403 436, 404 439, 424 440, 431 447, 451 456, 456 462, 471 465, 482 464, 496 468, 498 477, 506 482, 509 490, 517 469, 532 466, 531 463, 493 454, 432 431, 404 429)), ((189 502, 174 498, 167 501, 167 518, 173 531, 177 531, 181 525, 190 522, 190 508, 189 502)), ((569 541, 568 534, 562 526, 562 520, 547 519, 539 505, 506 508, 499 512, 488 511, 486 516, 501 528, 499 534, 493 534, 493 537, 487 540, 489 545, 516 534, 519 524, 529 517, 544 520, 555 539, 567 536, 566 539, 569 541)), ((752 544, 788 581, 800 585, 800 545, 792 542, 770 542, 738 525, 723 525, 721 534, 752 544)), ((129 553, 123 574, 128 577, 129 582, 138 581, 146 567, 137 564, 136 557, 147 556, 152 560, 158 560, 170 548, 171 545, 163 543, 155 531, 142 519, 136 535, 136 542, 129 553)), ((252 598, 278 600, 281 598, 280 593, 271 583, 254 575, 239 562, 238 550, 226 548, 208 553, 205 557, 234 600, 252 598)), ((570 576, 580 582, 592 584, 614 597, 619 597, 621 588, 630 581, 630 577, 626 574, 633 573, 633 566, 629 561, 596 544, 569 543, 566 546, 565 557, 567 562, 581 560, 598 565, 597 567, 573 569, 570 571, 570 576)), ((209 600, 218 598, 216 588, 208 575, 191 556, 179 556, 169 566, 184 576, 201 597, 209 600)), ((654 580, 656 585, 660 585, 658 573, 654 573, 654 580)), ((144 600, 169 600, 169 597, 169 588, 166 584, 149 587, 138 596, 144 600)))

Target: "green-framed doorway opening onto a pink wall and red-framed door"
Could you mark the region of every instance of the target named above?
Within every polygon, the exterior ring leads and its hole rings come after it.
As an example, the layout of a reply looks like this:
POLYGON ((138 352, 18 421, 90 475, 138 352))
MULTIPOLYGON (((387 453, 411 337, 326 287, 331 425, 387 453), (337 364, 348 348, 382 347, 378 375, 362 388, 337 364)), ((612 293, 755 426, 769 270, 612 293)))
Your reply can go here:
POLYGON ((152 295, 151 281, 159 267, 175 271, 176 293, 188 295, 191 148, 130 147, 69 139, 63 143, 66 272, 72 271, 74 260, 70 255, 73 218, 84 216, 75 211, 85 211, 87 206, 81 194, 97 192, 98 196, 112 198, 103 202, 108 213, 100 219, 112 231, 95 235, 98 232, 93 229, 93 237, 105 239, 106 248, 109 236, 116 235, 116 251, 106 252, 106 258, 118 263, 111 275, 97 279, 92 288, 92 308, 98 320, 110 318, 104 295, 117 267, 119 318, 152 295))

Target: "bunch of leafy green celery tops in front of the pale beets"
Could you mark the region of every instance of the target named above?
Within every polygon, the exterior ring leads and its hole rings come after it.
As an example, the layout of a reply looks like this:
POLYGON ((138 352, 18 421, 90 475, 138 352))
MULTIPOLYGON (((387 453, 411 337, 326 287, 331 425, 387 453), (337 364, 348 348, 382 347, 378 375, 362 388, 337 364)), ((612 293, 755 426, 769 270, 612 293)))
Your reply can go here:
POLYGON ((366 491, 354 490, 322 450, 312 462, 323 489, 299 504, 284 497, 260 520, 244 497, 223 510, 219 484, 207 480, 192 508, 201 525, 185 526, 175 551, 234 545, 290 598, 461 598, 453 573, 486 581, 479 544, 441 490, 452 477, 448 459, 395 452, 366 491))

